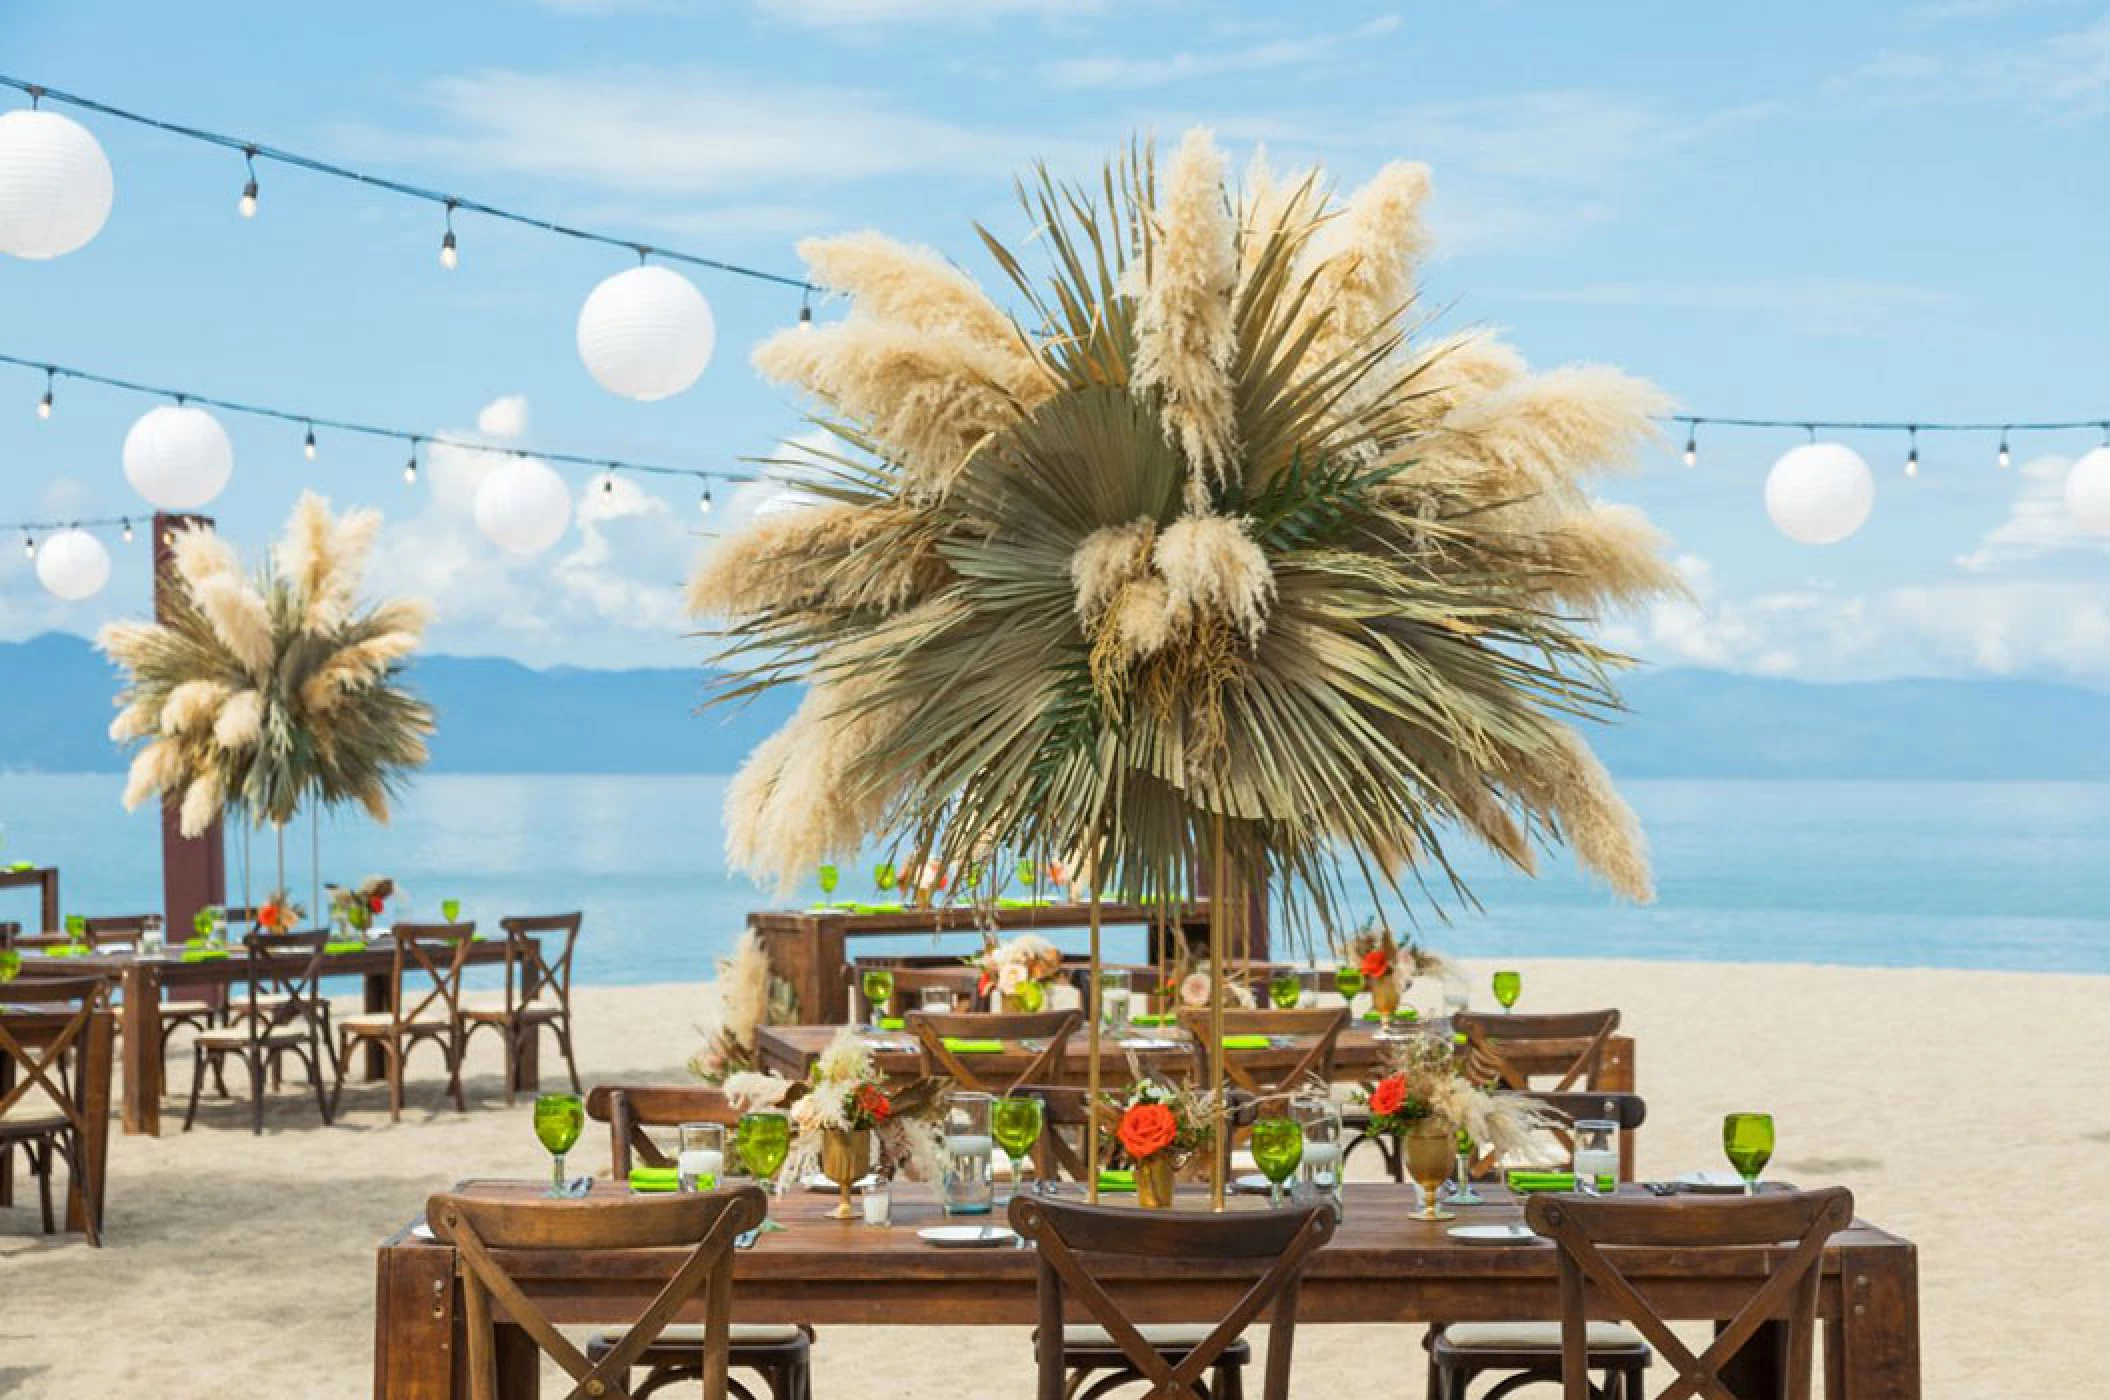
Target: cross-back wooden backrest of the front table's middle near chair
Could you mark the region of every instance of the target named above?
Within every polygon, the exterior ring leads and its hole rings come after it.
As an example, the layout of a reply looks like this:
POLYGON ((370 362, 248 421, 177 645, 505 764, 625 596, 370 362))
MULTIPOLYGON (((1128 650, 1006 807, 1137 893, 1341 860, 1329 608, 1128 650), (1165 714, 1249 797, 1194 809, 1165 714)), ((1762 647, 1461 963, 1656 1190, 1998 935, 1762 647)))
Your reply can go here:
POLYGON ((1329 1204, 1291 1210, 1201 1214, 1085 1206, 1047 1195, 1013 1195, 1011 1225, 1038 1246, 1040 1259, 1040 1389, 1038 1400, 1063 1400, 1061 1330, 1066 1299, 1076 1297, 1127 1362, 1150 1383, 1152 1400, 1188 1400, 1201 1377, 1245 1328, 1268 1318, 1264 1400, 1287 1400, 1289 1352, 1296 1341, 1298 1284, 1312 1250, 1334 1238, 1329 1204), (1192 1352, 1169 1362, 1129 1320, 1093 1267, 1114 1259, 1177 1259, 1247 1263, 1260 1276, 1192 1352))

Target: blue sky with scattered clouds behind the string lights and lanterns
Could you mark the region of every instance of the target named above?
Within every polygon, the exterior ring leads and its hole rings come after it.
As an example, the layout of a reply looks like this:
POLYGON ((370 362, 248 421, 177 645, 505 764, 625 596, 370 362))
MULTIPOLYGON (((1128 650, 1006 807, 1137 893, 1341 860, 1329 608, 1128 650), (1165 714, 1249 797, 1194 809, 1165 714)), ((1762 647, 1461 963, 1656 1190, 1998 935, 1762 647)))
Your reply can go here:
MULTIPOLYGON (((1224 0, 0 0, 0 72, 169 120, 692 253, 798 274, 808 234, 880 228, 994 285, 975 221, 1030 232, 1034 160, 1091 175, 1133 135, 1211 127, 1243 164, 1344 188, 1435 175, 1424 302, 1540 367, 1601 361, 1688 413, 2110 420, 2110 6, 1325 4, 1224 0)), ((4 103, 0 103, 4 105, 4 103)), ((0 352, 300 413, 530 449, 745 472, 806 428, 749 348, 798 293, 696 274, 703 380, 631 403, 574 320, 610 249, 87 118, 116 207, 87 249, 0 257, 0 352)), ((819 306, 819 316, 833 308, 819 306)), ((0 521, 139 512, 118 447, 150 401, 0 367, 0 521), (8 405, 15 405, 13 409, 8 405)), ((720 487, 574 474, 580 519, 513 561, 471 523, 487 460, 224 420, 213 504, 245 548, 302 489, 388 517, 373 582, 439 603, 433 647, 530 664, 682 666, 679 582, 753 508, 720 487)), ((1675 540, 1690 601, 1612 618, 1658 664, 1817 681, 1952 675, 2110 687, 2110 538, 2057 504, 2097 432, 1844 434, 1876 512, 1812 548, 1766 521, 1800 432, 1673 430, 1606 495, 1675 540)), ((4 533, 4 531, 0 531, 4 533)), ((143 544, 106 595, 44 595, 0 540, 0 637, 146 607, 143 544)))

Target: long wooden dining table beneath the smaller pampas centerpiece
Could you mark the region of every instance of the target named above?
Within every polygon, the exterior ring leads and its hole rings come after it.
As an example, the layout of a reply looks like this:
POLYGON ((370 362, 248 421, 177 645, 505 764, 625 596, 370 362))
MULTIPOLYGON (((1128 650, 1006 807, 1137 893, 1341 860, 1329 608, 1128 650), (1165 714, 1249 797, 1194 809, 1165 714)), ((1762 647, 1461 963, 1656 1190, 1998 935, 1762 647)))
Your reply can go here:
MULTIPOLYGON (((468 966, 502 964, 506 959, 504 938, 479 938, 468 947, 468 966)), ((363 980, 363 1008, 369 1012, 388 1010, 388 978, 395 970, 395 945, 388 938, 344 953, 329 953, 323 959, 323 978, 357 976, 363 980)), ((226 957, 186 961, 184 949, 162 953, 137 951, 93 951, 70 957, 53 957, 46 951, 21 949, 21 976, 99 976, 122 987, 124 997, 118 1018, 124 1035, 122 1052, 122 1120, 124 1132, 160 1136, 160 993, 169 983, 192 987, 232 989, 249 983, 249 955, 243 947, 230 945, 226 957)), ((530 1037, 521 1044, 517 1061, 517 1090, 534 1090, 540 1084, 540 1056, 530 1037)), ((363 1065, 367 1080, 386 1073, 382 1050, 367 1046, 363 1065)))

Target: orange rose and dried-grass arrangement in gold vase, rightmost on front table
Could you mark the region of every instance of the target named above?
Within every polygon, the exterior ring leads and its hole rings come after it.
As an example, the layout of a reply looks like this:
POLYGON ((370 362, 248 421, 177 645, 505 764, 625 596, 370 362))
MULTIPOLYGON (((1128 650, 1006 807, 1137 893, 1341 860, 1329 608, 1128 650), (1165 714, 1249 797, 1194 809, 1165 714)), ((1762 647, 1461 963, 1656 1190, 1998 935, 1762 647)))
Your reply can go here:
POLYGON ((1452 1219, 1437 1206, 1437 1191, 1452 1172, 1460 1134, 1509 1155, 1526 1151, 1553 1122, 1534 1098, 1473 1084, 1441 1035, 1409 1035, 1386 1052, 1365 1103, 1369 1132, 1399 1139, 1407 1174, 1422 1189, 1424 1221, 1452 1219))

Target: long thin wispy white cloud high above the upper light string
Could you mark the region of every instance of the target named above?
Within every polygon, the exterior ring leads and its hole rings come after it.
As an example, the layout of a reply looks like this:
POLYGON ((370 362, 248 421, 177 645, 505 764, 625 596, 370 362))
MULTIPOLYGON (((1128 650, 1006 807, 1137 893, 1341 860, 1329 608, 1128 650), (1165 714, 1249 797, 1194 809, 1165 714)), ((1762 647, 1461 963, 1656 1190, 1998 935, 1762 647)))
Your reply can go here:
POLYGON ((361 160, 511 171, 652 196, 722 196, 893 175, 1009 175, 1070 150, 1040 131, 966 127, 884 93, 709 67, 483 70, 426 86, 433 135, 342 127, 361 160))

